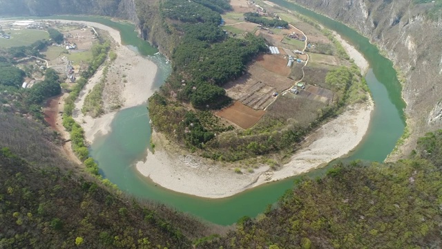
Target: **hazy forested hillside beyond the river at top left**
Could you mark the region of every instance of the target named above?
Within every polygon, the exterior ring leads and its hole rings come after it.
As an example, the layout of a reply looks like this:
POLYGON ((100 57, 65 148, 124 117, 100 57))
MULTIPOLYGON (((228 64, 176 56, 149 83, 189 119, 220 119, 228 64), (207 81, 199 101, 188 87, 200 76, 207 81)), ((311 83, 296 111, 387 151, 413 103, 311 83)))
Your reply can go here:
POLYGON ((107 15, 135 21, 133 0, 0 0, 0 15, 107 15))

